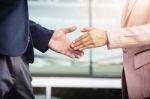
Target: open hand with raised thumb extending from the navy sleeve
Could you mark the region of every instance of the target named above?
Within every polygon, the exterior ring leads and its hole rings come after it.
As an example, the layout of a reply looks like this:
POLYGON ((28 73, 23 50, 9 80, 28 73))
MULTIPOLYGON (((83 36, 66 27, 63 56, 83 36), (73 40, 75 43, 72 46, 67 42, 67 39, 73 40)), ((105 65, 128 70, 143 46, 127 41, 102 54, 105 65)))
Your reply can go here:
POLYGON ((57 53, 64 54, 71 58, 80 58, 83 51, 76 51, 71 48, 71 42, 66 37, 70 32, 76 30, 76 27, 68 27, 56 30, 49 41, 48 47, 57 53))

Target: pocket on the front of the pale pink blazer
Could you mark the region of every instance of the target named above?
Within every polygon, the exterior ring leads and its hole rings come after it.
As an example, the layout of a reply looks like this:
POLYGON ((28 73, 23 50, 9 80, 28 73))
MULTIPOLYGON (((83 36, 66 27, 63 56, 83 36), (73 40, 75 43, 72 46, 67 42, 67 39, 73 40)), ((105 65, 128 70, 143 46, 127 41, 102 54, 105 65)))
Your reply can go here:
POLYGON ((134 67, 139 69, 147 64, 150 64, 150 49, 138 52, 134 56, 134 67))

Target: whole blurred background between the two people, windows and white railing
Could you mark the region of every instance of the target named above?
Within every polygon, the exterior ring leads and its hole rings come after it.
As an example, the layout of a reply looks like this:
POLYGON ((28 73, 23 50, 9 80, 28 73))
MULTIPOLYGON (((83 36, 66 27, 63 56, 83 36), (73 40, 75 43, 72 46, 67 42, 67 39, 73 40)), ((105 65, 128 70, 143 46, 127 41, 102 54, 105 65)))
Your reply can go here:
MULTIPOLYGON (((28 1, 30 19, 42 26, 53 30, 77 26, 67 35, 73 41, 83 27, 120 28, 125 0, 28 1)), ((81 59, 35 49, 30 71, 36 99, 121 99, 121 49, 94 48, 81 59)))

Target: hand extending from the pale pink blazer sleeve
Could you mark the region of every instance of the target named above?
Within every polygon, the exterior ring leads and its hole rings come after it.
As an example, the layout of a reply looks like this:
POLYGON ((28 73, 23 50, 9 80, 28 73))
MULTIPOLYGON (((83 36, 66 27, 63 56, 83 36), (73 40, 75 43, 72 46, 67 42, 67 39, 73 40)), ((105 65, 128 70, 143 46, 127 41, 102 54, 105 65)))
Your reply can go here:
POLYGON ((71 45, 74 50, 83 51, 88 48, 96 48, 105 45, 107 40, 106 32, 95 28, 84 28, 81 30, 85 34, 80 36, 71 45))

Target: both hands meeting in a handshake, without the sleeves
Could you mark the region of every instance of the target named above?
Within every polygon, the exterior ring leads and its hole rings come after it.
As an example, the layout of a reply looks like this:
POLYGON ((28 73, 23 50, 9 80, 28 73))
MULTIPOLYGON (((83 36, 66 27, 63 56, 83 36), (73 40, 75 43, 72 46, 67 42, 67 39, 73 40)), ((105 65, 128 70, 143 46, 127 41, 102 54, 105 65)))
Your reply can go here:
POLYGON ((75 26, 56 30, 48 43, 49 49, 71 58, 80 58, 85 49, 101 47, 108 43, 106 32, 95 28, 83 28, 81 32, 84 34, 71 42, 66 35, 75 30, 75 26))

